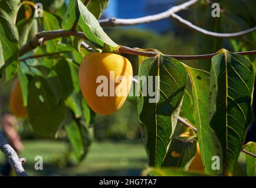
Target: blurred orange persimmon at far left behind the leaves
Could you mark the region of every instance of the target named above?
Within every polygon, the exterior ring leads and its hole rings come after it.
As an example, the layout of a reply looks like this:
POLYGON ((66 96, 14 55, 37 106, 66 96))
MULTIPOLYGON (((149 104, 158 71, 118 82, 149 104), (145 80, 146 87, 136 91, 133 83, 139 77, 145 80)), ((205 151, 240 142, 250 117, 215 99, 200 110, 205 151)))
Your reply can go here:
POLYGON ((27 108, 23 105, 21 86, 19 80, 14 81, 14 85, 11 90, 10 107, 12 114, 16 117, 27 117, 27 108))

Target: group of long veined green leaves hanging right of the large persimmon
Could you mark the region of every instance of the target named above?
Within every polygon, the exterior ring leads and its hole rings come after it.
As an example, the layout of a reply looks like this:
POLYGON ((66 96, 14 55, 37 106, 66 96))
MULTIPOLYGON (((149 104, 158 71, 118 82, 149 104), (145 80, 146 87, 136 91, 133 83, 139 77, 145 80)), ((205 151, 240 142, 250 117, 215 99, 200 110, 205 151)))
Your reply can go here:
MULTIPOLYGON (((209 73, 159 55, 141 63, 139 76, 142 75, 160 76, 155 88, 160 90, 159 102, 150 103, 150 96, 141 95, 138 99, 138 113, 149 165, 165 167, 164 170, 170 166, 188 169, 192 162, 196 153, 196 140, 173 137, 182 106, 180 116, 197 128, 196 136, 205 172, 232 175, 244 143, 244 135, 253 119, 252 90, 255 75, 252 63, 222 49, 212 58, 209 73), (192 96, 186 90, 187 75, 192 85, 192 96), (172 155, 172 152, 178 155, 172 155), (220 159, 219 169, 213 167, 214 156, 220 159)), ((245 148, 253 152, 253 145, 255 143, 245 148)), ((247 163, 250 160, 251 157, 247 163)), ((247 169, 250 171, 252 168, 255 170, 255 164, 251 162, 247 169)))

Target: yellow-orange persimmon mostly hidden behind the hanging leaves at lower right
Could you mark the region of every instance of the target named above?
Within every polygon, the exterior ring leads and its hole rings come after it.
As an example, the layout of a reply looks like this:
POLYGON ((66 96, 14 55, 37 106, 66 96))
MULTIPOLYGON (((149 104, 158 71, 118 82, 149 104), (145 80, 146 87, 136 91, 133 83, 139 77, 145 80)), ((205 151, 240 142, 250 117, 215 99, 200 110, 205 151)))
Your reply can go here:
MULTIPOLYGON (((189 132, 182 133, 181 137, 189 136, 189 132)), ((198 142, 196 142, 196 155, 189 166, 189 170, 197 170, 204 172, 204 164, 202 163, 201 153, 198 142)))

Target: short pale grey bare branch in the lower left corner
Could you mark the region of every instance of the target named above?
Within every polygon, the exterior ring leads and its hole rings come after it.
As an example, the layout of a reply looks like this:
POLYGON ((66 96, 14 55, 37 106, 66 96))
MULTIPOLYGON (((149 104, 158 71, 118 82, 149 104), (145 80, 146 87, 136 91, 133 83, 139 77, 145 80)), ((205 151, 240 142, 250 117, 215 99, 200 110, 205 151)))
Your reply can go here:
POLYGON ((4 132, 0 130, 0 149, 5 154, 8 162, 11 164, 12 169, 14 170, 17 176, 28 176, 22 167, 22 162, 25 162, 25 158, 19 159, 15 150, 8 144, 5 139, 4 132))

